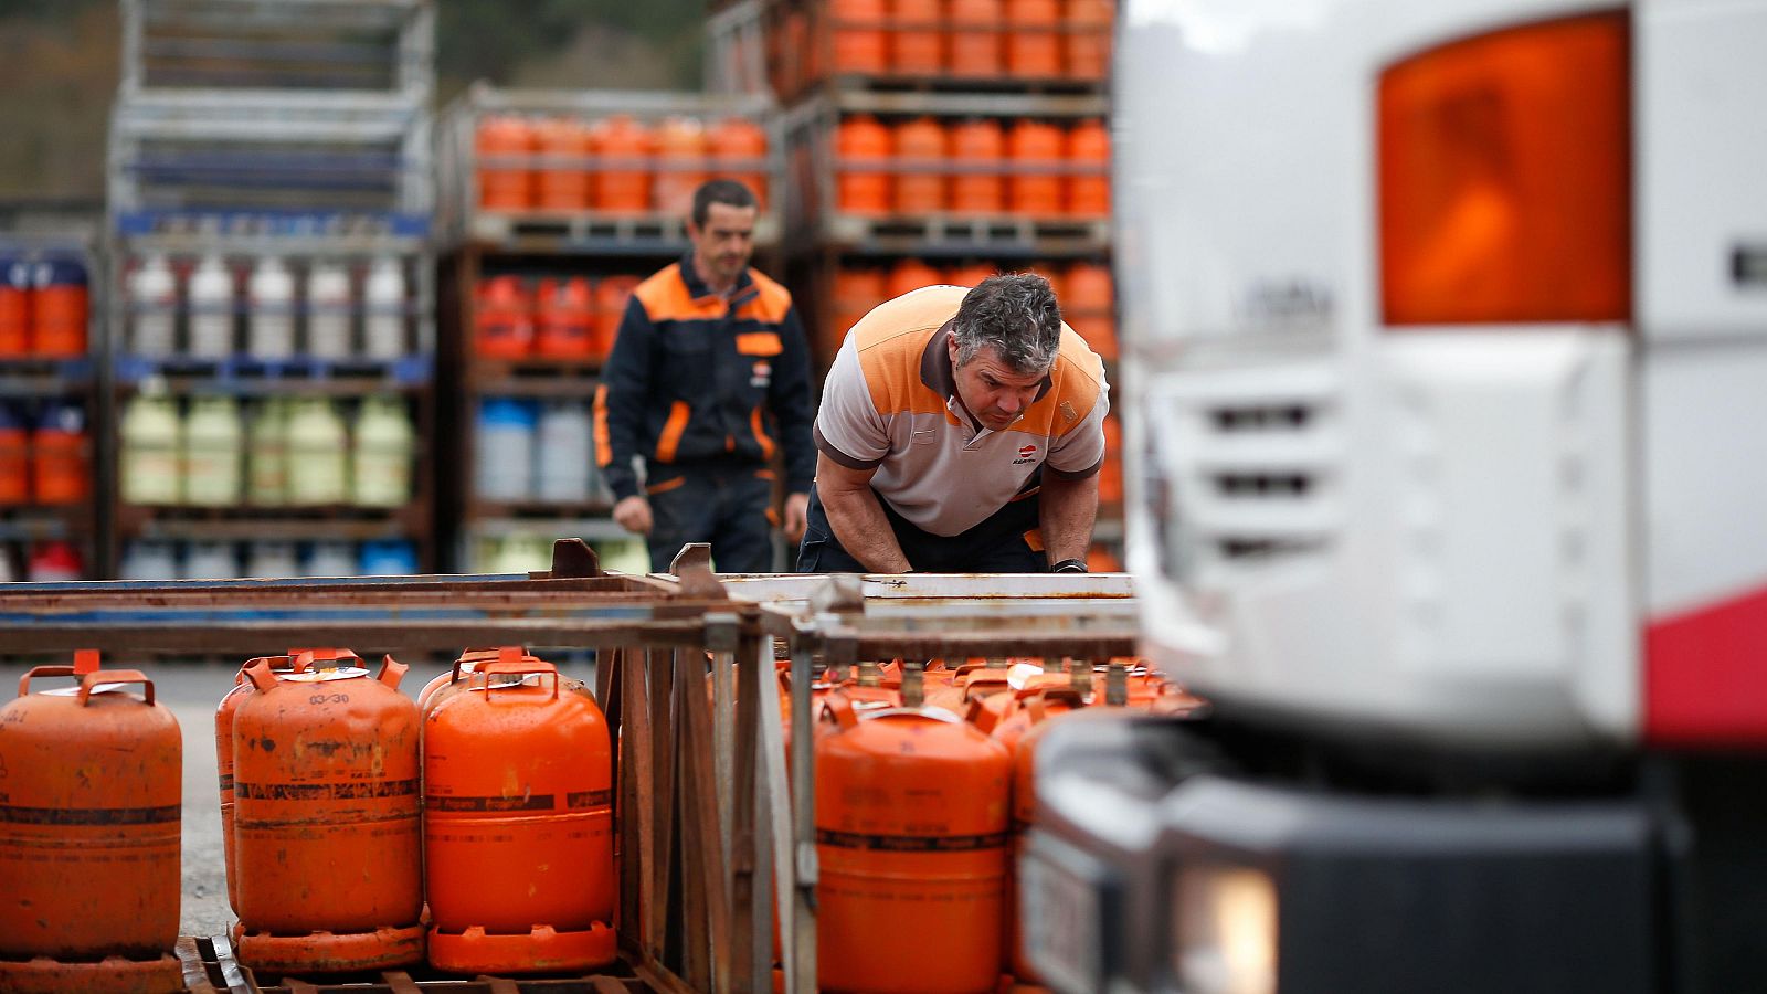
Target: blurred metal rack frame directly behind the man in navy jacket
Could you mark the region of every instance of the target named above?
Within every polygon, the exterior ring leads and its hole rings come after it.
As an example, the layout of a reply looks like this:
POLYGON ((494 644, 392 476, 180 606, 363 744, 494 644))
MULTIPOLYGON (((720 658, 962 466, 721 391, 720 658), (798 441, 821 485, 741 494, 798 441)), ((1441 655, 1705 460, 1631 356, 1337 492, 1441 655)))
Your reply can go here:
MULTIPOLYGON (((763 159, 726 161, 732 172, 763 173, 769 195, 756 221, 756 265, 767 272, 779 246, 779 191, 783 152, 772 101, 755 94, 686 94, 641 90, 504 90, 475 83, 440 117, 436 166, 440 230, 452 251, 444 260, 444 371, 447 393, 459 403, 444 412, 440 437, 454 446, 449 478, 442 483, 442 520, 459 529, 444 538, 458 568, 477 568, 486 548, 509 539, 574 534, 601 543, 629 547, 634 536, 608 516, 606 493, 581 502, 489 501, 475 492, 479 432, 475 416, 486 398, 571 400, 587 403, 601 384, 601 356, 580 359, 491 359, 475 347, 479 324, 477 288, 502 276, 541 278, 647 278, 680 258, 687 248, 686 218, 673 212, 608 214, 581 210, 489 210, 481 207, 481 168, 595 168, 601 159, 500 156, 482 161, 477 150, 479 124, 489 115, 525 119, 567 117, 599 120, 627 115, 647 126, 670 117, 712 122, 744 117, 769 134, 763 159)), ((666 168, 661 159, 622 159, 622 168, 666 168)), ((601 315, 611 322, 617 315, 601 315)), ((611 338, 611 336, 610 336, 611 338)))

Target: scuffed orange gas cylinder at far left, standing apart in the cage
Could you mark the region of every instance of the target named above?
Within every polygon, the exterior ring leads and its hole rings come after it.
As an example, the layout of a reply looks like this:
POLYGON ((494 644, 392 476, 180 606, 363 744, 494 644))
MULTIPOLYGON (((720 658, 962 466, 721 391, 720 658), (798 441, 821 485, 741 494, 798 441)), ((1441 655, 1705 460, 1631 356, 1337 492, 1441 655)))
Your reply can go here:
POLYGON ((182 990, 184 748, 152 681, 90 651, 37 667, 0 707, 0 990, 182 990), (57 676, 80 684, 30 692, 57 676))

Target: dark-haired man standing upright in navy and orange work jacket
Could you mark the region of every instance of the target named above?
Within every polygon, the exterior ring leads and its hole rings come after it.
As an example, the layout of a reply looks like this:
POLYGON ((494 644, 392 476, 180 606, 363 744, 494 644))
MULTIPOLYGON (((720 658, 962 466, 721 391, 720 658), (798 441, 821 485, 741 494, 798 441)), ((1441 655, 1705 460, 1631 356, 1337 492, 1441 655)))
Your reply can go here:
POLYGON ((659 573, 689 541, 712 543, 723 573, 772 570, 776 447, 785 534, 804 534, 809 357, 792 294, 749 269, 758 212, 737 180, 693 193, 693 248, 633 292, 595 391, 613 520, 647 538, 659 573), (633 456, 645 460, 643 493, 633 456))

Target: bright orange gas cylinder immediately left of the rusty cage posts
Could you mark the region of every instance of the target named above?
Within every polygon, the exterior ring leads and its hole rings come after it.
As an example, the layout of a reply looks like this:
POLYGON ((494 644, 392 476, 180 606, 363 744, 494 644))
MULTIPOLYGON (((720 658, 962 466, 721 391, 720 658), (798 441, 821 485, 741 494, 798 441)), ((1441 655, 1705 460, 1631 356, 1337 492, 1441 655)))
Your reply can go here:
POLYGON ((613 752, 592 699, 502 654, 424 718, 429 962, 456 973, 617 959, 613 752))

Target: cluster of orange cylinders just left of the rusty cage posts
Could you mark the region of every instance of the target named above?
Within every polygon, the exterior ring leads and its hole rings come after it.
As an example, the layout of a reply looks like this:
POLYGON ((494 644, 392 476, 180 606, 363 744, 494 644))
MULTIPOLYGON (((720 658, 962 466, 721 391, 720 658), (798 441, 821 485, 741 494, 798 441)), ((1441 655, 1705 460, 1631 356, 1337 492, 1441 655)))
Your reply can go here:
POLYGON ((216 713, 240 962, 590 969, 611 929, 613 762, 588 692, 519 647, 399 693, 348 649, 251 660, 216 713))

